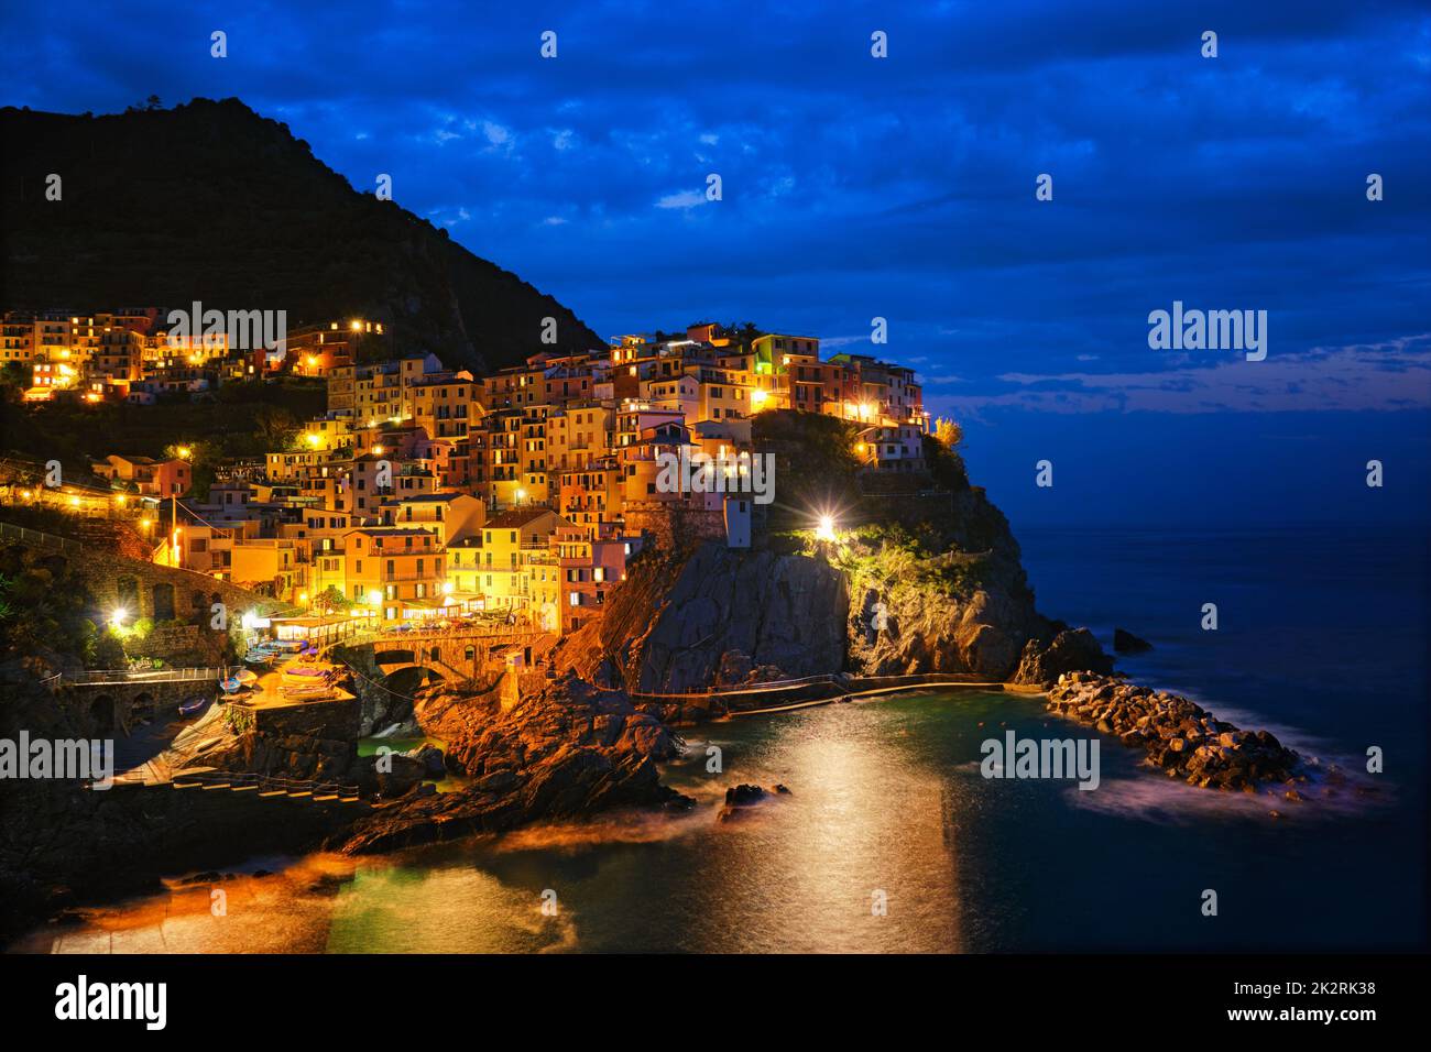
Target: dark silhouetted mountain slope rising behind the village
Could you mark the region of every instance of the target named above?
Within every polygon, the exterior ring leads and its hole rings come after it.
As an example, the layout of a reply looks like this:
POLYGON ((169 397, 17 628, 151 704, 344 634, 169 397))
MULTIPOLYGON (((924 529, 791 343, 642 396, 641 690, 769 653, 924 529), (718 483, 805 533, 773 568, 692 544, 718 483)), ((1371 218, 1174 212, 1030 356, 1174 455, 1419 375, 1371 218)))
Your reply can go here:
MULTIPOLYGON (((283 309, 385 321, 392 352, 498 368, 602 341, 238 99, 93 117, 0 109, 4 306, 283 309), (49 173, 63 179, 46 199, 49 173), (363 192, 359 192, 363 190, 363 192), (544 348, 542 318, 558 342, 544 348)), ((402 187, 396 187, 398 200, 402 187)))

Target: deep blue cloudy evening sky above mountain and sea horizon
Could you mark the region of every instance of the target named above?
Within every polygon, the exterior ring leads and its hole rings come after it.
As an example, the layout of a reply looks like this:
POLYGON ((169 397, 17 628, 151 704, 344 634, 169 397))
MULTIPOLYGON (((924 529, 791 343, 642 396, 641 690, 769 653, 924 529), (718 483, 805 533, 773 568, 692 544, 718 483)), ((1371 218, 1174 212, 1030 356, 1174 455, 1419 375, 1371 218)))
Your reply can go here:
POLYGON ((1076 7, 11 6, 0 103, 238 96, 597 332, 910 364, 1015 527, 1431 518, 1431 14, 1076 7), (1266 361, 1149 349, 1175 299, 1265 309, 1266 361))

